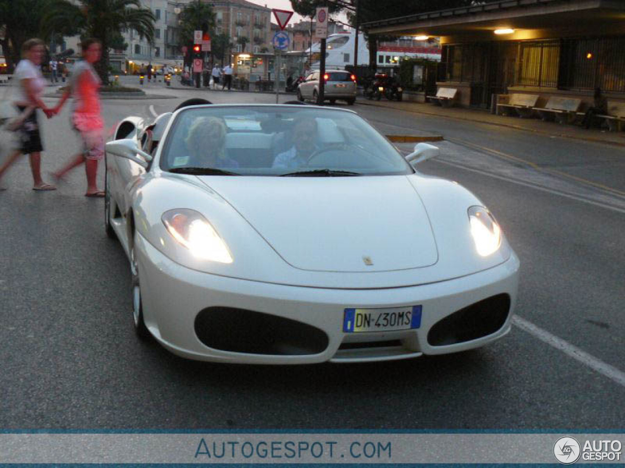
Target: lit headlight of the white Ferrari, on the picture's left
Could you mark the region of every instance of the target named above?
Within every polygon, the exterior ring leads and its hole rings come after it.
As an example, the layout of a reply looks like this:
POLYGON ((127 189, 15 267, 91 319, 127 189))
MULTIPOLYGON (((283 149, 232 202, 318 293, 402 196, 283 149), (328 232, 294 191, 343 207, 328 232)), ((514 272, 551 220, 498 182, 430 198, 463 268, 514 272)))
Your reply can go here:
POLYGON ((161 220, 173 238, 192 255, 202 260, 232 263, 226 243, 200 213, 179 208, 163 213, 161 220))

